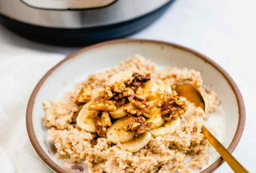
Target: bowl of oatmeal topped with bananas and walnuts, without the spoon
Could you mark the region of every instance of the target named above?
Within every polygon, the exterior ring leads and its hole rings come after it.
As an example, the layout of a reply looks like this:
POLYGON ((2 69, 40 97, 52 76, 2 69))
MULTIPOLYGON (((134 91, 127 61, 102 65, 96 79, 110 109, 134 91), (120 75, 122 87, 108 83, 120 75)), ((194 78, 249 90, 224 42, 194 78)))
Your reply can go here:
POLYGON ((222 163, 205 125, 233 152, 245 110, 233 79, 193 50, 121 39, 69 55, 39 81, 30 141, 55 172, 211 172, 222 163), (199 89, 207 112, 177 95, 199 89))

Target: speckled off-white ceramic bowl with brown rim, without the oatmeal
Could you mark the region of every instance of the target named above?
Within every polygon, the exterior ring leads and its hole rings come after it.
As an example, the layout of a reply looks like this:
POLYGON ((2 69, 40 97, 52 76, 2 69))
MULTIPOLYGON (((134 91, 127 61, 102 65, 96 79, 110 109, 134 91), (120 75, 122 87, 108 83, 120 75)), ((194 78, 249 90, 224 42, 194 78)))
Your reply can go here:
MULTIPOLYGON (((31 94, 27 107, 27 131, 38 155, 53 171, 67 172, 48 152, 43 127, 44 111, 42 102, 60 100, 76 83, 91 73, 118 65, 134 54, 153 60, 158 67, 187 67, 201 72, 204 85, 220 97, 224 116, 212 116, 206 122, 215 136, 233 152, 242 136, 245 123, 245 107, 241 93, 234 80, 220 65, 208 57, 189 48, 155 40, 120 39, 92 45, 69 55, 59 62, 38 82, 31 94)), ((213 152, 209 164, 202 169, 211 172, 222 163, 217 152, 213 152)))

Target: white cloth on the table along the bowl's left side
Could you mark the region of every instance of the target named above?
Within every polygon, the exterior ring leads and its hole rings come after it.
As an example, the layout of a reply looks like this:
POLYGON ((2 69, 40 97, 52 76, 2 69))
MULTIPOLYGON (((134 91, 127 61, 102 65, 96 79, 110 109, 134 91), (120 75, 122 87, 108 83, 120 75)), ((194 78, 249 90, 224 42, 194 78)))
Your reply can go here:
POLYGON ((0 172, 51 172, 30 144, 29 96, 41 77, 65 55, 0 44, 0 172))

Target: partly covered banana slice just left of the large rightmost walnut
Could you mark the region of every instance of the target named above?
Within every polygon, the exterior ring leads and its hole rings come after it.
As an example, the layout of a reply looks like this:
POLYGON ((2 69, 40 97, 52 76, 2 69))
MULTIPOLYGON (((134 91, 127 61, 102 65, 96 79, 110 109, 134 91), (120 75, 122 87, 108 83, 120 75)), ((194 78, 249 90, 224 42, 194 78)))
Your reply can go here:
POLYGON ((165 120, 161 116, 161 108, 155 106, 150 110, 150 113, 151 117, 147 119, 147 122, 153 122, 151 129, 162 126, 165 120))

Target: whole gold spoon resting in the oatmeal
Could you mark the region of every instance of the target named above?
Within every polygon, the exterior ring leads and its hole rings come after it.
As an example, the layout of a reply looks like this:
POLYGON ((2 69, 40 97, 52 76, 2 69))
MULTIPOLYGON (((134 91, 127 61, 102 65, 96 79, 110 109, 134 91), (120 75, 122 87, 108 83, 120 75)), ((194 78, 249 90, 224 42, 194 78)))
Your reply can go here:
MULTIPOLYGON (((193 87, 192 85, 179 85, 177 87, 177 93, 179 96, 186 97, 188 101, 195 103, 200 106, 204 112, 207 111, 207 104, 202 93, 193 87)), ((228 165, 235 172, 248 172, 235 158, 232 156, 228 150, 215 138, 206 127, 202 127, 202 133, 205 138, 210 142, 215 150, 221 155, 221 157, 228 163, 228 165)))

